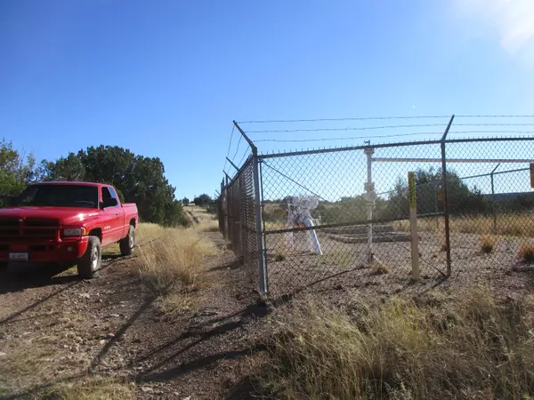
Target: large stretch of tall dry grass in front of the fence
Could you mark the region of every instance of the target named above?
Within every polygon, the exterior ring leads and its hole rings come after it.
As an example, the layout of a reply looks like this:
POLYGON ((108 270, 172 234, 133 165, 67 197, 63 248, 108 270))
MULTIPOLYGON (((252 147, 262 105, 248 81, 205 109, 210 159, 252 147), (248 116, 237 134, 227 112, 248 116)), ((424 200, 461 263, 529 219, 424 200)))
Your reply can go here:
MULTIPOLYGON (((423 304, 358 300, 352 316, 307 300, 272 339, 276 398, 530 398, 533 297, 488 291, 423 304), (379 304, 379 303, 378 303, 379 304)), ((280 316, 281 318, 281 316, 280 316)))

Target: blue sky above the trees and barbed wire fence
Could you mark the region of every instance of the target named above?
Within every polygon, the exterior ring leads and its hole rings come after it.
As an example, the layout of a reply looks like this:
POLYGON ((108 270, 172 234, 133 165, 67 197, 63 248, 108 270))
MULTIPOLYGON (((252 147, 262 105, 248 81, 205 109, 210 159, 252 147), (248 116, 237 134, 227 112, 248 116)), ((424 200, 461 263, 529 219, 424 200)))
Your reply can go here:
POLYGON ((212 195, 232 119, 532 114, 534 2, 5 0, 0 60, 15 148, 118 145, 212 195))

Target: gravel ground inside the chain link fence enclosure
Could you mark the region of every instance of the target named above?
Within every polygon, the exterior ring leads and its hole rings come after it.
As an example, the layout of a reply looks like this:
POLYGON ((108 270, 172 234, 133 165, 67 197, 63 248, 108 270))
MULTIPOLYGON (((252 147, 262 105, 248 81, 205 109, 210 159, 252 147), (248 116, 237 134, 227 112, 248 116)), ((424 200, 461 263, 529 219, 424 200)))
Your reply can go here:
POLYGON ((421 279, 411 280, 409 242, 373 244, 376 263, 368 265, 367 244, 345 244, 319 232, 323 255, 303 252, 305 237, 295 236, 295 250, 287 252, 283 234, 267 236, 267 272, 271 294, 291 291, 368 291, 384 295, 420 294, 433 289, 488 285, 499 295, 524 291, 532 286, 530 264, 517 256, 529 238, 500 236, 489 254, 481 252, 479 235, 452 234, 451 271, 448 279, 444 238, 422 232, 419 241, 421 279), (300 245, 300 247, 299 247, 300 245), (279 254, 283 254, 280 257, 279 254), (278 257, 277 257, 278 256, 278 257), (384 266, 377 270, 378 265, 384 266))

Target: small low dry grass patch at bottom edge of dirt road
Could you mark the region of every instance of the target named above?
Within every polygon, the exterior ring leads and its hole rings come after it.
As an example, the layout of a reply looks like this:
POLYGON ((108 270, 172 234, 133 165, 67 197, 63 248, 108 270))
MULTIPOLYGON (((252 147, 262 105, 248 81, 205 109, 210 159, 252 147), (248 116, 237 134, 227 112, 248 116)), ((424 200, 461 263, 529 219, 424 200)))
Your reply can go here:
POLYGON ((41 398, 57 400, 116 400, 134 399, 135 385, 125 380, 92 378, 60 382, 47 388, 41 398))

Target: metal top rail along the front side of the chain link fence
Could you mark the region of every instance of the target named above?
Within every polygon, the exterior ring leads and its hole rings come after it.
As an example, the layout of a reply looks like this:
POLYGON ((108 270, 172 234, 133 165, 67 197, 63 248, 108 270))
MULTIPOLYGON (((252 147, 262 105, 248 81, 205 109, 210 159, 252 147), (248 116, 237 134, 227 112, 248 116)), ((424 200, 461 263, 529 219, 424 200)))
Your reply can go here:
POLYGON ((366 148, 401 148, 410 146, 422 146, 422 145, 438 145, 441 143, 473 143, 473 142, 489 142, 489 141, 534 141, 534 136, 518 136, 518 137, 498 137, 498 138, 463 138, 463 139, 446 139, 446 140, 416 140, 416 141, 403 141, 398 143, 376 143, 361 146, 346 146, 343 148, 314 148, 312 150, 297 150, 287 151, 281 153, 261 154, 260 160, 268 158, 279 158, 288 156, 305 156, 311 154, 321 153, 336 153, 342 151, 354 151, 364 150, 366 148))

